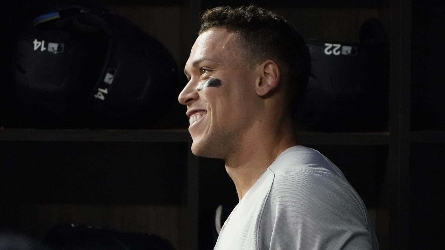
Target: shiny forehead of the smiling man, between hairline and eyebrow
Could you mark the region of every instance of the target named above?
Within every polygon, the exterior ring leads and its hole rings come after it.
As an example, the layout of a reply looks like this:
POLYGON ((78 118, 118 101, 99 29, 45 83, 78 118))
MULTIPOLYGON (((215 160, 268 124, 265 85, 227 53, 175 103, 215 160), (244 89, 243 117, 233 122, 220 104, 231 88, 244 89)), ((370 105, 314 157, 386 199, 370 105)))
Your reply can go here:
POLYGON ((239 36, 225 28, 210 28, 196 39, 190 51, 186 66, 203 59, 210 59, 218 64, 232 64, 241 59, 238 43, 239 36))

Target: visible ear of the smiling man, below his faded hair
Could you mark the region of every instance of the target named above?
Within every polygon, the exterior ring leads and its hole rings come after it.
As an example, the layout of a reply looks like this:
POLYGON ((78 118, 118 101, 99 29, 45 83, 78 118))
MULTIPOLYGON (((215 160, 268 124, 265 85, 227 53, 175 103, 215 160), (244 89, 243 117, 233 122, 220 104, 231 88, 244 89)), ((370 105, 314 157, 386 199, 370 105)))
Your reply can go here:
POLYGON ((258 66, 260 78, 256 85, 256 93, 265 96, 278 86, 280 79, 279 66, 273 60, 266 60, 258 66))

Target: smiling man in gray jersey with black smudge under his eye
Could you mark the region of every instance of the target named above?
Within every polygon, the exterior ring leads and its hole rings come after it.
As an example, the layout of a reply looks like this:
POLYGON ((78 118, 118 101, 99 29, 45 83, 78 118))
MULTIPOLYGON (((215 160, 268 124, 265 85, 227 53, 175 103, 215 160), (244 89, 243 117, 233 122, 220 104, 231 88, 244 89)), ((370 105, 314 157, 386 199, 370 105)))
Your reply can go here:
POLYGON ((310 67, 304 40, 283 17, 253 5, 203 14, 178 99, 192 152, 223 159, 238 193, 215 249, 378 249, 344 174, 298 144, 292 114, 310 67))

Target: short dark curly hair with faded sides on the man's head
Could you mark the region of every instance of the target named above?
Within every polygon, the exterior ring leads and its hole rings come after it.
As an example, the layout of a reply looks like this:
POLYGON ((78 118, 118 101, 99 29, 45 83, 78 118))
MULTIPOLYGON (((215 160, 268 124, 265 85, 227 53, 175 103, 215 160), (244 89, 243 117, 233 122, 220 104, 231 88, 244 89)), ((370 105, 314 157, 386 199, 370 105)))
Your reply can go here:
POLYGON ((274 60, 282 71, 292 113, 306 89, 311 58, 298 30, 283 16, 255 5, 219 6, 202 14, 199 35, 214 27, 238 33, 241 48, 251 65, 274 60))

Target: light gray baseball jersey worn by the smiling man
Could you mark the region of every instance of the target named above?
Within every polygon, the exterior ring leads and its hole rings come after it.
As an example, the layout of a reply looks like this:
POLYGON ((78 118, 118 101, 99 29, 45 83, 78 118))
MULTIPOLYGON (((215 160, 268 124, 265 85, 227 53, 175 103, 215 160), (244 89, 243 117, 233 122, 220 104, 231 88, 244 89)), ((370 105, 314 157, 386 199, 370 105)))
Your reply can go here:
POLYGON ((286 149, 224 223, 215 250, 378 250, 366 207, 320 152, 286 149))

